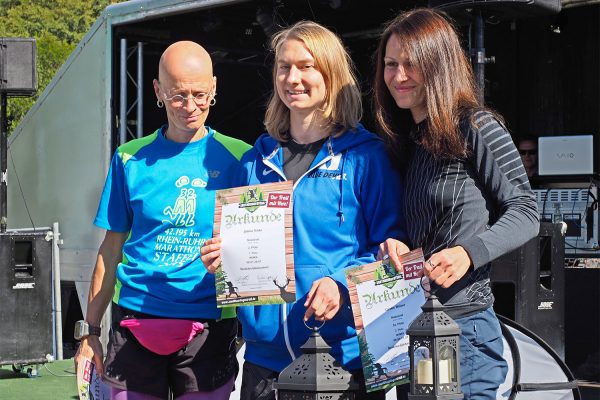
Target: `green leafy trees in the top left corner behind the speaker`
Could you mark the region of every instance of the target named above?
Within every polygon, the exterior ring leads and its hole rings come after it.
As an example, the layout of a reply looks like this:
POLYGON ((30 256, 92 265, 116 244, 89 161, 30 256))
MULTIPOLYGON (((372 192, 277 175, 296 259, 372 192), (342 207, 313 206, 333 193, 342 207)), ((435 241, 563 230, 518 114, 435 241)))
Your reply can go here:
POLYGON ((9 132, 19 124, 102 10, 119 2, 0 0, 0 37, 33 37, 37 46, 38 90, 33 97, 9 99, 9 132))

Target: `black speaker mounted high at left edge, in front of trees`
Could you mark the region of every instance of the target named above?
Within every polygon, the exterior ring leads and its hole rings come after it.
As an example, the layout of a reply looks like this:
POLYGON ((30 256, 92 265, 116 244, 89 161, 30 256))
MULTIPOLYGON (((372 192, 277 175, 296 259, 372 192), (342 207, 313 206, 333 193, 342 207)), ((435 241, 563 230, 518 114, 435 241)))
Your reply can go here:
POLYGON ((36 90, 35 39, 0 38, 0 92, 30 96, 36 90))

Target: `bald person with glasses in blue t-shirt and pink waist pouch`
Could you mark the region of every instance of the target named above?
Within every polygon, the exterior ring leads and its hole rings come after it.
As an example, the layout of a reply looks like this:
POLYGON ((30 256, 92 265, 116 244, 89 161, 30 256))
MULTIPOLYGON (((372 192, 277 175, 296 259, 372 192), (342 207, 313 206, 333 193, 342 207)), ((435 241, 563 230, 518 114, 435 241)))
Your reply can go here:
POLYGON ((217 309, 199 259, 212 236, 214 191, 230 187, 246 143, 205 125, 217 79, 200 45, 177 42, 153 81, 167 123, 122 144, 94 221, 106 229, 75 362, 94 359, 116 400, 228 399, 238 371, 237 323, 217 309), (104 360, 100 321, 112 305, 104 360))

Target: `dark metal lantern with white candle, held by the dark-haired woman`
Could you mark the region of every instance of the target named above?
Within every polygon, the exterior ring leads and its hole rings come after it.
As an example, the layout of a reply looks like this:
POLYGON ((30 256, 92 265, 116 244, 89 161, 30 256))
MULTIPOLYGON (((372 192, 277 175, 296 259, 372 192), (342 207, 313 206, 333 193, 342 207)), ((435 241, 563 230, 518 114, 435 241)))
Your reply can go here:
POLYGON ((460 328, 431 295, 423 312, 410 324, 409 400, 462 399, 460 391, 460 328))

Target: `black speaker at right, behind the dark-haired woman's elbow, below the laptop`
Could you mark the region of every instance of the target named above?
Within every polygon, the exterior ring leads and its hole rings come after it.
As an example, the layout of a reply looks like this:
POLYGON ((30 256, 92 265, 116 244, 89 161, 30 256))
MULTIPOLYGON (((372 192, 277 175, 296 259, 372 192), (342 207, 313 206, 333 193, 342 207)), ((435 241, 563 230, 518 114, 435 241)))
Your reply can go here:
POLYGON ((496 313, 516 321, 565 357, 565 240, 561 224, 540 223, 538 237, 492 262, 496 313))

